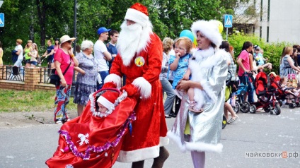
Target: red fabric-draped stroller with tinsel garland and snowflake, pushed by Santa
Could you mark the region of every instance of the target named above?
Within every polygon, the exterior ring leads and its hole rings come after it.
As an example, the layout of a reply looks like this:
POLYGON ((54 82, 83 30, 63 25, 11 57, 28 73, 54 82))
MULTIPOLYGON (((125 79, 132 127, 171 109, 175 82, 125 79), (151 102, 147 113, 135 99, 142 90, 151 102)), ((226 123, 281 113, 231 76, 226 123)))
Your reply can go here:
POLYGON ((127 97, 127 92, 120 93, 114 88, 103 88, 92 93, 81 116, 60 128, 57 150, 46 161, 47 166, 113 167, 123 137, 136 119, 133 112, 136 103, 135 99, 127 97), (97 100, 109 107, 106 112, 98 111, 97 100))

